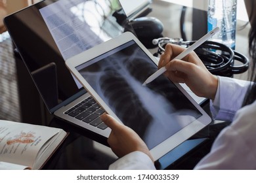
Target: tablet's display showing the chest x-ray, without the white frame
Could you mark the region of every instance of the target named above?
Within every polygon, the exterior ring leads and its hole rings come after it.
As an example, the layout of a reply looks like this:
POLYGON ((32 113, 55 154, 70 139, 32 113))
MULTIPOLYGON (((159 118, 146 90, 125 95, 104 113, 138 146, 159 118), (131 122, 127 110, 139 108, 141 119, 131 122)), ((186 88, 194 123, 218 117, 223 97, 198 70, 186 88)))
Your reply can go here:
POLYGON ((134 129, 150 149, 202 116, 164 75, 142 86, 158 68, 135 41, 75 69, 119 120, 134 129))

